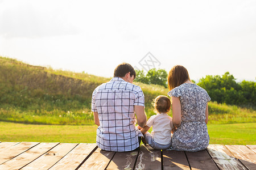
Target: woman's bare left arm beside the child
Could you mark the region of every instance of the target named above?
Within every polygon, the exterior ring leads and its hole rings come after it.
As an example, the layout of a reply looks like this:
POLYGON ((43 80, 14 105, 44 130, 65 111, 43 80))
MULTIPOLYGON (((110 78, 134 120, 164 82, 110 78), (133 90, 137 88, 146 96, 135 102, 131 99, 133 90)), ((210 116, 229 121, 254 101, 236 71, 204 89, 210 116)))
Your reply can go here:
POLYGON ((181 104, 179 97, 171 97, 172 100, 172 123, 177 128, 181 124, 181 104))

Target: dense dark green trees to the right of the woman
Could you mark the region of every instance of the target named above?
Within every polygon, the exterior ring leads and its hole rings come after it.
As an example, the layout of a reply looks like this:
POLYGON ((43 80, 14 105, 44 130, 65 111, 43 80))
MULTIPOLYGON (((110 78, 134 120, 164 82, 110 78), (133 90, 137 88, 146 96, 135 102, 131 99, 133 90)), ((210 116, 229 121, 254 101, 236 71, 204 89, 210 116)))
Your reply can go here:
POLYGON ((237 83, 234 76, 226 72, 222 76, 207 75, 197 85, 208 92, 212 101, 256 107, 256 82, 243 80, 237 83))

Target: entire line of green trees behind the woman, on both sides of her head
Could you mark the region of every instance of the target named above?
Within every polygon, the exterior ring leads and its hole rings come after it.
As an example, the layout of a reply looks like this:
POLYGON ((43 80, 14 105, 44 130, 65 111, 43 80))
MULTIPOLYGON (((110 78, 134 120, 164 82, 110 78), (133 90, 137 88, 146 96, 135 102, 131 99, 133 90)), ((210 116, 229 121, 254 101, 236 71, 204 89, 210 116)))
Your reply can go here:
MULTIPOLYGON (((164 69, 151 69, 147 73, 143 70, 136 70, 136 73, 135 82, 168 87, 168 74, 164 69)), ((256 82, 243 80, 237 83, 234 76, 226 72, 222 76, 207 75, 201 78, 197 85, 204 88, 212 101, 217 101, 217 103, 256 107, 256 82)))

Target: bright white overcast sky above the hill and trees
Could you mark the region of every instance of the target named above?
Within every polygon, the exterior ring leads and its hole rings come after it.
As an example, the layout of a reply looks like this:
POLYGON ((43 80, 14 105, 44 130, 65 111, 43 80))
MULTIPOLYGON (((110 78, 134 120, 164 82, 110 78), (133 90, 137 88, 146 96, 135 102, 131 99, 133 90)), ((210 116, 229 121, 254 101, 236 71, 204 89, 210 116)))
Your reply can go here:
POLYGON ((256 1, 0 0, 0 56, 105 77, 127 62, 255 81, 256 1))

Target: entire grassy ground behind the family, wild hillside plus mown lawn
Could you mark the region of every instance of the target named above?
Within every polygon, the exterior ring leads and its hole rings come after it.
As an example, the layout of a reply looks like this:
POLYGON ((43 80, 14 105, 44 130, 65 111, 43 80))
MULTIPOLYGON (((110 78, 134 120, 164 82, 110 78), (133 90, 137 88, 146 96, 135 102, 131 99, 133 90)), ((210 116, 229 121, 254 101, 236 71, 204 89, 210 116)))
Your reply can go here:
MULTIPOLYGON (((32 66, 1 56, 0 73, 0 141, 96 142, 92 92, 111 78, 32 66)), ((152 99, 167 95, 168 89, 134 84, 143 90, 149 118, 155 114, 152 99)), ((212 101, 208 105, 210 143, 256 143, 255 108, 212 101)))

